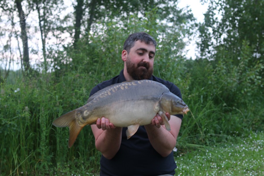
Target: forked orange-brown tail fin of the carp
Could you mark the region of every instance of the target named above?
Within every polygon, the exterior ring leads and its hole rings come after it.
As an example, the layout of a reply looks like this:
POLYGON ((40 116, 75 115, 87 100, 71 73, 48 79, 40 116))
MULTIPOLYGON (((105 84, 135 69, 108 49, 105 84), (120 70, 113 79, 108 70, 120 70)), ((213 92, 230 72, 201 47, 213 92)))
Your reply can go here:
POLYGON ((73 145, 77 136, 79 135, 80 131, 83 128, 83 126, 80 126, 79 123, 76 121, 75 111, 76 110, 70 111, 57 118, 55 121, 53 121, 54 126, 69 127, 69 131, 70 131, 70 137, 68 142, 69 148, 73 145))

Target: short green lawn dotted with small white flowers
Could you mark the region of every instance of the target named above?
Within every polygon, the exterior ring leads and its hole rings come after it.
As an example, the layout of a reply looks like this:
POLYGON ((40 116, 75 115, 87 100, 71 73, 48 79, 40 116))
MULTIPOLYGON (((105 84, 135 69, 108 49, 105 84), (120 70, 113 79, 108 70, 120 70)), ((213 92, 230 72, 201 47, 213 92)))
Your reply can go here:
POLYGON ((226 142, 212 147, 178 150, 176 175, 264 175, 264 132, 247 137, 231 133, 226 142))

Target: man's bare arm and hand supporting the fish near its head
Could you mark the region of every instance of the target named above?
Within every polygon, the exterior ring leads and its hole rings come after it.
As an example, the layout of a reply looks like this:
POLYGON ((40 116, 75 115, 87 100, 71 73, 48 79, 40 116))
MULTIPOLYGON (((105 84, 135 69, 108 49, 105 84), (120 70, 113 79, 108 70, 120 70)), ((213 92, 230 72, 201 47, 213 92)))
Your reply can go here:
POLYGON ((167 131, 158 114, 150 125, 145 125, 151 145, 163 157, 168 156, 175 147, 182 123, 182 119, 176 116, 170 116, 169 113, 166 113, 166 116, 170 117, 170 131, 167 131))

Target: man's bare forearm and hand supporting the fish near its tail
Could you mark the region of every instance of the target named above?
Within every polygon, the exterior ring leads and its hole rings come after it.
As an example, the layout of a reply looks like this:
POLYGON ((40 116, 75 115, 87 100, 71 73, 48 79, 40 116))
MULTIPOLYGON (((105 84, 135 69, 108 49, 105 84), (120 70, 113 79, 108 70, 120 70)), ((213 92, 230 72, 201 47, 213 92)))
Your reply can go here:
POLYGON ((104 117, 91 125, 95 138, 95 147, 107 159, 112 159, 121 145, 122 128, 115 127, 104 117))

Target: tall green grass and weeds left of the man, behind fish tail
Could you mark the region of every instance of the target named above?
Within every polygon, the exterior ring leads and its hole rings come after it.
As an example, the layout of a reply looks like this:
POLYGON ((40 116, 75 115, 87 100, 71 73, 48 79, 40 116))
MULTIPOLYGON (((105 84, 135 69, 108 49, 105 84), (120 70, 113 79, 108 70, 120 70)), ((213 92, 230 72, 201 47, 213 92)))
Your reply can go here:
POLYGON ((73 72, 60 82, 54 78, 54 74, 43 74, 18 79, 15 85, 2 84, 0 173, 50 175, 54 171, 51 166, 62 168, 60 163, 73 162, 75 158, 98 169, 99 153, 89 127, 84 128, 75 146, 69 149, 68 130, 52 125, 60 115, 85 104, 93 86, 87 83, 92 80, 73 72))

